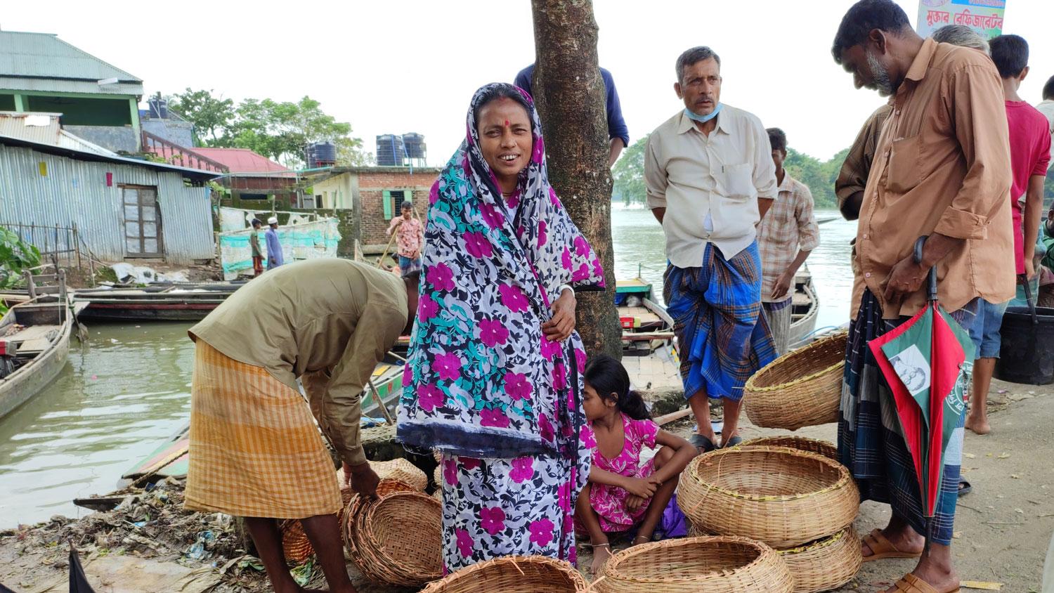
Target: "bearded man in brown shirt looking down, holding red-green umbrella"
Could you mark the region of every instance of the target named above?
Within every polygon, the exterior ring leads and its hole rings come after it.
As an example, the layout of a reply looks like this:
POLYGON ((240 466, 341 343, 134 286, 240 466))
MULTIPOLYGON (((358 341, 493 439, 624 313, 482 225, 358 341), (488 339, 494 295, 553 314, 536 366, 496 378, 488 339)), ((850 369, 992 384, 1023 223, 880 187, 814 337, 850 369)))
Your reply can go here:
POLYGON ((860 207, 839 456, 863 499, 892 506, 889 526, 864 538, 865 559, 917 555, 929 531, 930 553, 901 585, 955 591, 950 545, 961 424, 944 456, 936 515, 926 519, 892 393, 865 356, 866 341, 921 310, 922 282, 934 265, 941 304, 967 330, 978 297, 998 302, 1013 296, 1001 84, 987 56, 921 39, 892 0, 861 0, 850 8, 832 54, 857 87, 893 97, 860 207), (923 235, 922 263, 915 263, 913 245, 923 235))

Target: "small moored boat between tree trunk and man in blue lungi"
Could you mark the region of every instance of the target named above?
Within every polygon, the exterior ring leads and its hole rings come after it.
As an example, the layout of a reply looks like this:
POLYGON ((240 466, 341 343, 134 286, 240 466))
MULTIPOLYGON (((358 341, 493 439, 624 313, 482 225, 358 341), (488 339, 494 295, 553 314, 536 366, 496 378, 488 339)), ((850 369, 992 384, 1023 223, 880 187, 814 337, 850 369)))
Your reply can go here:
POLYGON ((674 341, 674 320, 655 301, 651 284, 641 278, 616 281, 614 304, 622 324, 623 356, 647 356, 674 341))

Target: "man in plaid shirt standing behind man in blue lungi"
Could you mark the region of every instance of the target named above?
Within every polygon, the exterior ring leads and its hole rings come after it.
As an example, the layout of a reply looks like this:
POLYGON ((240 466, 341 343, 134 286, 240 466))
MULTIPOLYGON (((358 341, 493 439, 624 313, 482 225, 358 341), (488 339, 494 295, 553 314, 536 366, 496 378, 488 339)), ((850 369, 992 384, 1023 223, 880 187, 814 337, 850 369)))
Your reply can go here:
POLYGON ((776 163, 779 196, 761 219, 758 250, 761 252, 761 304, 773 332, 776 351, 789 349, 790 300, 794 277, 808 254, 820 244, 820 232, 813 216, 813 194, 783 169, 787 137, 779 127, 769 127, 768 142, 776 163))

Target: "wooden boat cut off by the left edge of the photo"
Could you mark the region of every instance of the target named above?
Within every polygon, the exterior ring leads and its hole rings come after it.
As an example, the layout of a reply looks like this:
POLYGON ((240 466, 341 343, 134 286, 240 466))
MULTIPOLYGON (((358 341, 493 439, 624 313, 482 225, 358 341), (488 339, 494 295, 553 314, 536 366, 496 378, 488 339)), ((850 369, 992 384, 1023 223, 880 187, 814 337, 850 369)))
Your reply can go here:
POLYGON ((58 298, 35 295, 0 318, 0 418, 40 392, 65 365, 73 318, 64 278, 53 276, 61 282, 58 298))

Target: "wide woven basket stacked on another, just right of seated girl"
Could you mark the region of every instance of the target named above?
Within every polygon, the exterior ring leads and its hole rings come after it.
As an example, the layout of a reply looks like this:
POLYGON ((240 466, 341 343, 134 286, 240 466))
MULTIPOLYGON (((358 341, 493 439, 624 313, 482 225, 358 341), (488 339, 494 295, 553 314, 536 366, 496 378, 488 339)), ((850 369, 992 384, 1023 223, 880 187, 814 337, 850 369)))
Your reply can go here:
POLYGON ((794 548, 850 526, 860 493, 848 470, 822 455, 736 447, 692 459, 677 502, 702 531, 794 548))

